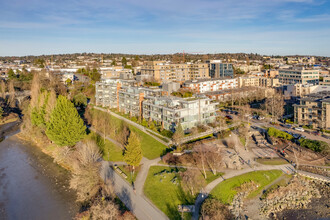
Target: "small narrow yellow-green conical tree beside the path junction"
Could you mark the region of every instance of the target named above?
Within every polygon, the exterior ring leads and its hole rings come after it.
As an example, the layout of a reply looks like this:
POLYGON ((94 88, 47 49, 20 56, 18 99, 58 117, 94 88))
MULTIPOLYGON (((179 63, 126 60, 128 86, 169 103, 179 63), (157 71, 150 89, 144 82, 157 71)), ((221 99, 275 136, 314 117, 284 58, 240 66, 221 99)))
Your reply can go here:
POLYGON ((136 166, 140 165, 142 160, 142 149, 138 136, 132 132, 128 138, 128 144, 124 151, 124 161, 133 167, 133 173, 136 166))

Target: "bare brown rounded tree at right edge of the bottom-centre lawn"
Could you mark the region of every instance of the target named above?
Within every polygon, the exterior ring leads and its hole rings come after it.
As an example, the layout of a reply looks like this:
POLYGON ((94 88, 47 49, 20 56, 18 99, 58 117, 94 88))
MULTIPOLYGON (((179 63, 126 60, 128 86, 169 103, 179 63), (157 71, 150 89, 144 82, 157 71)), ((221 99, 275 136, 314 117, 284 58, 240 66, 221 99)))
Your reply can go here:
POLYGON ((189 191, 193 196, 206 185, 205 179, 200 175, 198 170, 187 169, 185 172, 182 172, 180 176, 182 188, 189 191))

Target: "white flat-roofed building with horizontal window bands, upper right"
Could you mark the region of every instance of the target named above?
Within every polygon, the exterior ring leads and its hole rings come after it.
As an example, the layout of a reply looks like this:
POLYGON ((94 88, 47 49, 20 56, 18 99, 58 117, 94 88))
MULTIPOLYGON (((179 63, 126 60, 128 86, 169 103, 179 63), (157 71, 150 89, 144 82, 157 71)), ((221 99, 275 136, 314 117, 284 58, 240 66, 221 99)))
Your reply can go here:
POLYGON ((282 84, 318 84, 319 71, 305 69, 280 69, 278 78, 282 84))

